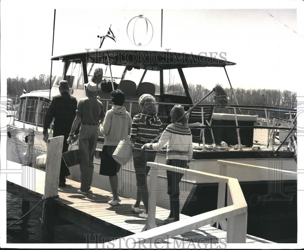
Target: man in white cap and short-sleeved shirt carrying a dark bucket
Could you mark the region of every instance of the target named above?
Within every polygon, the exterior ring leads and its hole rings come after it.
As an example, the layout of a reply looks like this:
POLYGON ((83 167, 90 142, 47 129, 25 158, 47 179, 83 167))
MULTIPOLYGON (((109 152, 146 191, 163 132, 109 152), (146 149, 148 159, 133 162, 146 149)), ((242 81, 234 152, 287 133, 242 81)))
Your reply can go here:
POLYGON ((96 88, 97 85, 93 82, 86 84, 86 97, 78 100, 76 118, 67 139, 67 144, 70 144, 75 130, 81 123, 78 144, 81 186, 77 191, 81 194, 87 194, 92 184, 98 126, 105 117, 102 103, 95 97, 96 88))

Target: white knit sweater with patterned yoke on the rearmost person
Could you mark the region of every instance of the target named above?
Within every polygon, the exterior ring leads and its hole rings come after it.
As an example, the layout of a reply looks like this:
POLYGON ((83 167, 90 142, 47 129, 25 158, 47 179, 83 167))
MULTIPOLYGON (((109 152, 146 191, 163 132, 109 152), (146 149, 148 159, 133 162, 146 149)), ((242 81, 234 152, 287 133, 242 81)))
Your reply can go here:
POLYGON ((167 145, 167 159, 192 159, 192 134, 186 125, 172 123, 164 130, 157 143, 146 144, 147 149, 161 150, 167 145))

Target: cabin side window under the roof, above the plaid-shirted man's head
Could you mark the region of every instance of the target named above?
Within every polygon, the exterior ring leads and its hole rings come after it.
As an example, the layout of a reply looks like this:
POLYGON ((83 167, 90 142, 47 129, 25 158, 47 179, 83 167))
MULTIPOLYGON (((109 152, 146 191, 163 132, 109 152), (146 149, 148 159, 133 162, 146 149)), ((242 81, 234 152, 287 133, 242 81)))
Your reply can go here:
POLYGON ((83 70, 80 60, 71 61, 65 80, 67 80, 72 89, 84 89, 83 70))

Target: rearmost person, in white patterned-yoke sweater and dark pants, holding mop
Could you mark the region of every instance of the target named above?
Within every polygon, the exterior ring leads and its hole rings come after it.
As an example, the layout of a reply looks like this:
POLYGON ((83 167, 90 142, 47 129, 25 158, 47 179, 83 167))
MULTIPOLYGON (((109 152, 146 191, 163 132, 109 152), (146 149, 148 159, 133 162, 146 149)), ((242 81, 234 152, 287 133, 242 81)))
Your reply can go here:
MULTIPOLYGON (((142 149, 161 150, 167 144, 166 165, 179 168, 189 168, 192 159, 192 134, 190 128, 186 125, 186 116, 181 105, 175 105, 171 109, 171 124, 164 130, 157 143, 148 143, 143 145, 142 149), (177 122, 178 121, 178 122, 177 122)), ((179 183, 183 174, 167 170, 168 195, 170 198, 170 215, 168 222, 179 220, 179 183)))

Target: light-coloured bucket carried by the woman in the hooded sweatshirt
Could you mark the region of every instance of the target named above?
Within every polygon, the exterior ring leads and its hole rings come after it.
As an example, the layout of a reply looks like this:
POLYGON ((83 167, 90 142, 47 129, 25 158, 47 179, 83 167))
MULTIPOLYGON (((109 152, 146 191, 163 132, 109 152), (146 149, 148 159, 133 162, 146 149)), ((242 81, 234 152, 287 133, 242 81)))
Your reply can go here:
POLYGON ((132 161, 133 146, 134 143, 131 142, 130 137, 125 140, 121 140, 116 147, 112 157, 121 165, 126 165, 128 162, 132 161))

